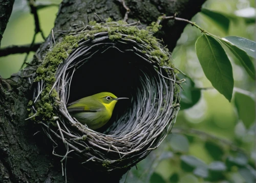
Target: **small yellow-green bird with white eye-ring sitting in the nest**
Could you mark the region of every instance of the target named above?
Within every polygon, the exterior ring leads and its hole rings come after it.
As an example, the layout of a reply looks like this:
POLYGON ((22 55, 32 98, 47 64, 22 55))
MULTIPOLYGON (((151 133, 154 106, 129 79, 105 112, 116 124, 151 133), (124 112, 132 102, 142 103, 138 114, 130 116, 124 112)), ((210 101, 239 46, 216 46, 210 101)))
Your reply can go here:
POLYGON ((117 98, 112 93, 101 92, 72 102, 67 109, 77 121, 94 130, 110 120, 117 101, 121 99, 129 98, 117 98))

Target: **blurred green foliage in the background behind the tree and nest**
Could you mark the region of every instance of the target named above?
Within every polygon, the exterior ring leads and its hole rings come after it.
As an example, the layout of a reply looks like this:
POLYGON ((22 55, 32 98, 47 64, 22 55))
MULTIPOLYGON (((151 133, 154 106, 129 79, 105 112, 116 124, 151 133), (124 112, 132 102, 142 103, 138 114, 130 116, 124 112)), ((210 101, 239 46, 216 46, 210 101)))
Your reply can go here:
MULTIPOLYGON (((39 3, 60 3, 37 0, 39 3)), ((192 21, 208 32, 225 37, 254 40, 255 2, 253 0, 208 0, 192 21), (254 14, 253 14, 254 11, 254 14), (253 16, 254 15, 254 16, 253 16)), ((45 35, 54 26, 58 7, 41 6, 40 25, 45 35)), ((26 0, 15 1, 4 33, 2 48, 29 44, 34 20, 26 0)), ((229 103, 205 77, 195 51, 202 33, 188 25, 172 56, 186 76, 172 134, 146 159, 125 174, 121 182, 255 182, 255 81, 241 62, 226 51, 231 60, 234 91, 229 103)), ((36 42, 43 41, 40 35, 36 42)), ((33 53, 30 53, 31 59, 33 53)), ((0 57, 0 75, 16 73, 25 54, 0 57)), ((255 63, 254 63, 255 64, 255 63)))

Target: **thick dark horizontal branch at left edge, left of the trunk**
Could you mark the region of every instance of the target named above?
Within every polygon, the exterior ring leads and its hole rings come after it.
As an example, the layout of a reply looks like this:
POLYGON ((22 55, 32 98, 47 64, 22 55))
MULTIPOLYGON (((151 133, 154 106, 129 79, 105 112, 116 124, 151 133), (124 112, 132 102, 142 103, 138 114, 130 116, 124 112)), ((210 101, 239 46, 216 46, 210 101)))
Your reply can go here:
POLYGON ((10 47, 5 47, 0 49, 0 57, 17 54, 17 53, 28 53, 35 52, 41 45, 42 42, 34 43, 31 47, 31 44, 24 45, 11 45, 10 47))

